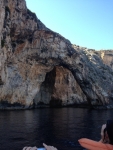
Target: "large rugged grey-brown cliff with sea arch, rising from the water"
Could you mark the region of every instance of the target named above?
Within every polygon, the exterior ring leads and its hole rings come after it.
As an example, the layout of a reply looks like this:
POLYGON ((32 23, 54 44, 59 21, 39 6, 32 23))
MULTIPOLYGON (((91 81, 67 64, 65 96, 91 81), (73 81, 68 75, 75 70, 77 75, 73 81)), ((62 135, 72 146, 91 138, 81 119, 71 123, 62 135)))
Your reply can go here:
POLYGON ((112 107, 113 71, 98 52, 72 45, 26 8, 0 0, 0 106, 112 107))

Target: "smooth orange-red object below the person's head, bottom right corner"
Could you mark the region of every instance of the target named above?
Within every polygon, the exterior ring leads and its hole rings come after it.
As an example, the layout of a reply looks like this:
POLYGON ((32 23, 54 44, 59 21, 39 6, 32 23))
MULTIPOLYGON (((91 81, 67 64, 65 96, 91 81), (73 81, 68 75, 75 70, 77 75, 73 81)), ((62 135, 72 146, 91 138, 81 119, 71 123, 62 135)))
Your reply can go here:
POLYGON ((88 150, 113 150, 113 145, 96 142, 90 139, 82 138, 78 140, 80 145, 88 150))

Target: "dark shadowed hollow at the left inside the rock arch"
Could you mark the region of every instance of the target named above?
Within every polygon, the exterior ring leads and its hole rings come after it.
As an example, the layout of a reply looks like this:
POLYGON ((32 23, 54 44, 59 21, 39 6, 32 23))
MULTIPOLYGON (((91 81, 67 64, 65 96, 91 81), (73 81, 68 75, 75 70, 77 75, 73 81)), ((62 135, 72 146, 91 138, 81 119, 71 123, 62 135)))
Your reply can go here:
POLYGON ((45 104, 50 107, 59 107, 62 105, 62 101, 53 97, 56 79, 56 67, 46 74, 44 82, 42 82, 40 91, 34 98, 35 107, 40 107, 45 104))

